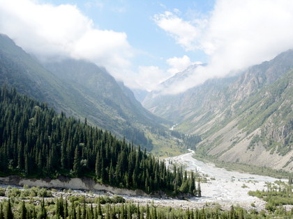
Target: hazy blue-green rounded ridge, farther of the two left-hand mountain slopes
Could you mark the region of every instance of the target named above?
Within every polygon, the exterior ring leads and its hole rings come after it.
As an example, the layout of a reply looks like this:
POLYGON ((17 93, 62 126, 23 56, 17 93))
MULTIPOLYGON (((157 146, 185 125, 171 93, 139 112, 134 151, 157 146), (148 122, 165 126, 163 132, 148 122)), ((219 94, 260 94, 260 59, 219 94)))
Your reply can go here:
POLYGON ((59 79, 79 89, 84 97, 98 100, 96 106, 101 111, 104 110, 104 113, 112 114, 111 117, 121 117, 122 121, 119 122, 138 122, 146 125, 165 122, 143 108, 123 83, 117 83, 105 69, 93 63, 68 59, 57 63, 44 63, 44 66, 59 79), (109 107, 111 108, 105 111, 109 107))

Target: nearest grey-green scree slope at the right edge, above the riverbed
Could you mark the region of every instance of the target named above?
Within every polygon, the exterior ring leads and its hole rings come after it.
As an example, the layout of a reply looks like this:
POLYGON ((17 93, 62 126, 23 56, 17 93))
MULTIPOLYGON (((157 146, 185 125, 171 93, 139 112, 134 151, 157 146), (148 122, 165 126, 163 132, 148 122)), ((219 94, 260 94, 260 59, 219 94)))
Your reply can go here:
POLYGON ((234 106, 236 115, 224 118, 223 125, 200 143, 200 149, 221 161, 292 171, 292 93, 290 71, 234 106))

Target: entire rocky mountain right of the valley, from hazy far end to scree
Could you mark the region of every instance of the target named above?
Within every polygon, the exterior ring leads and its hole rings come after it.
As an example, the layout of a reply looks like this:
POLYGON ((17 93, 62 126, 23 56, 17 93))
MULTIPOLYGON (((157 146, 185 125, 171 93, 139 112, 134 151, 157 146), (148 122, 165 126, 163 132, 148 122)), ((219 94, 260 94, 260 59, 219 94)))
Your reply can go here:
POLYGON ((292 69, 289 50, 178 95, 150 94, 143 105, 178 123, 176 130, 202 136, 197 145, 202 154, 292 171, 292 69))

